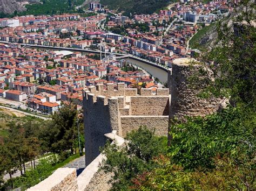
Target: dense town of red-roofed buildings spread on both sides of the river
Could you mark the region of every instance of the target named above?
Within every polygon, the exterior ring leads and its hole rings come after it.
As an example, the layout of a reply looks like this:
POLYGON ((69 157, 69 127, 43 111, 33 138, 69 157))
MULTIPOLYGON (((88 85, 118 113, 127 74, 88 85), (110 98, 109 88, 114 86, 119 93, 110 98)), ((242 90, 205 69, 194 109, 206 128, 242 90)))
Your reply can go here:
POLYGON ((129 18, 90 3, 93 16, 89 17, 68 14, 0 19, 0 95, 51 114, 65 101, 73 100, 81 107, 82 91, 96 84, 124 82, 126 87, 140 84, 155 91, 157 79, 114 54, 132 54, 171 68, 174 59, 199 52, 188 44, 198 30, 228 16, 232 9, 227 1, 181 1, 169 10, 129 18), (33 48, 35 45, 38 47, 33 48), (100 56, 39 46, 92 49, 100 56))

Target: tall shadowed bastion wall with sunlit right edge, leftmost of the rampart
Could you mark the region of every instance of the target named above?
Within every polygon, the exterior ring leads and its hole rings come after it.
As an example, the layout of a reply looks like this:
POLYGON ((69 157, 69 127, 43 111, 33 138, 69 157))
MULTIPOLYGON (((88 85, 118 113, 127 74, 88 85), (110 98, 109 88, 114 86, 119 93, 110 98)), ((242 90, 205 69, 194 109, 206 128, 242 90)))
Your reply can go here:
POLYGON ((90 91, 86 91, 83 102, 85 165, 87 166, 99 155, 99 148, 105 145, 104 134, 120 129, 120 119, 117 98, 96 97, 90 91))

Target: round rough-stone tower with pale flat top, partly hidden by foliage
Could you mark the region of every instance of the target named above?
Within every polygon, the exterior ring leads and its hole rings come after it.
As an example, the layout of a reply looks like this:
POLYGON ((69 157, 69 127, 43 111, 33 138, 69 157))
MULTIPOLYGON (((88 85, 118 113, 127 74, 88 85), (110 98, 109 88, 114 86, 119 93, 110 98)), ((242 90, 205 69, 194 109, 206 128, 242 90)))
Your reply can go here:
MULTIPOLYGON (((171 94, 170 118, 184 119, 185 116, 205 116, 219 109, 220 100, 203 99, 197 96, 198 90, 191 89, 188 77, 193 70, 188 59, 176 59, 169 70, 169 88, 171 94)), ((197 65, 193 66, 197 69, 197 65)))

